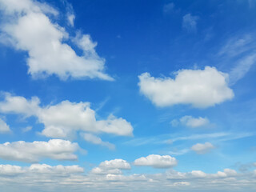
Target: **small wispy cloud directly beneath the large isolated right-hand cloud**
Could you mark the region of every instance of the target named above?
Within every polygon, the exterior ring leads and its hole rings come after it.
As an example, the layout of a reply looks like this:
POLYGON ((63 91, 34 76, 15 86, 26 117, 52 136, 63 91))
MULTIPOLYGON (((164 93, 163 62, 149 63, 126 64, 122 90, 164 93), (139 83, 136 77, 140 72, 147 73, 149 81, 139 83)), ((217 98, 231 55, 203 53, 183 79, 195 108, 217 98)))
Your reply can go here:
POLYGON ((202 118, 202 117, 194 118, 189 115, 186 115, 180 118, 179 120, 174 119, 173 121, 171 121, 172 126, 178 126, 178 124, 182 124, 183 126, 188 126, 192 128, 206 126, 206 125, 209 125, 209 123, 210 121, 208 120, 208 118, 202 118))

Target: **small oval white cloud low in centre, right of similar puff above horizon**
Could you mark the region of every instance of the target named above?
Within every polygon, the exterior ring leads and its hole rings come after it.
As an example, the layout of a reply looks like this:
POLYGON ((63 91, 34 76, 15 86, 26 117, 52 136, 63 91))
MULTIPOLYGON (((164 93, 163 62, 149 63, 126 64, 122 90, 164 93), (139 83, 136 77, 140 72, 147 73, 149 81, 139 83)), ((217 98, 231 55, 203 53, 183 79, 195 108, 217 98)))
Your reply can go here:
POLYGON ((146 158, 138 158, 134 161, 135 166, 153 166, 154 168, 168 168, 177 165, 176 158, 170 155, 150 154, 146 158))

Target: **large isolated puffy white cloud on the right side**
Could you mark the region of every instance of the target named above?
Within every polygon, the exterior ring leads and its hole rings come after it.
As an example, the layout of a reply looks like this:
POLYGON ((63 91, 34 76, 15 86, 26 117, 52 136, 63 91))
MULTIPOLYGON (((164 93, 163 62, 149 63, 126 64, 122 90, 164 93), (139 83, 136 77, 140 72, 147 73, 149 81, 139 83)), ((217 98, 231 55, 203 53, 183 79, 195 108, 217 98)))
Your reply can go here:
POLYGON ((214 67, 204 70, 178 70, 173 78, 154 78, 149 73, 138 76, 140 92, 156 106, 191 104, 206 108, 234 97, 228 87, 228 74, 214 67))

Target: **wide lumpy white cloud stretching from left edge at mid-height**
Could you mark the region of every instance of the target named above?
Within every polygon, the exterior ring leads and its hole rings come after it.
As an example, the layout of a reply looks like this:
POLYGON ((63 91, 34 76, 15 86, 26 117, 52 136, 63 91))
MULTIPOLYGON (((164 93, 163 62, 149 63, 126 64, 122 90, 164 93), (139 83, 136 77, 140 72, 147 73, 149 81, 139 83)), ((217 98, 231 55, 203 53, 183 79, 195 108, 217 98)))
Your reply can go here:
POLYGON ((41 134, 50 138, 69 138, 77 131, 133 135, 133 127, 126 119, 116 118, 110 114, 105 120, 97 120, 95 111, 90 109, 89 102, 62 101, 45 107, 39 104, 40 100, 37 97, 26 99, 6 93, 5 99, 0 102, 0 112, 37 117, 38 122, 45 126, 41 134))

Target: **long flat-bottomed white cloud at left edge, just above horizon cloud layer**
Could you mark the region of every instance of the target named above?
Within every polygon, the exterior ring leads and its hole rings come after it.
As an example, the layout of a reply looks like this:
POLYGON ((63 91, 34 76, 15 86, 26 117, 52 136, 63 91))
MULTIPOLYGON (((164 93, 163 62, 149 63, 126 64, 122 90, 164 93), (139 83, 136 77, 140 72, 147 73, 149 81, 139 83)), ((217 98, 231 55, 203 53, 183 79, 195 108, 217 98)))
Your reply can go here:
POLYGON ((62 139, 49 142, 6 142, 0 144, 0 158, 21 162, 39 162, 42 158, 58 160, 77 160, 74 154, 78 143, 62 139))

